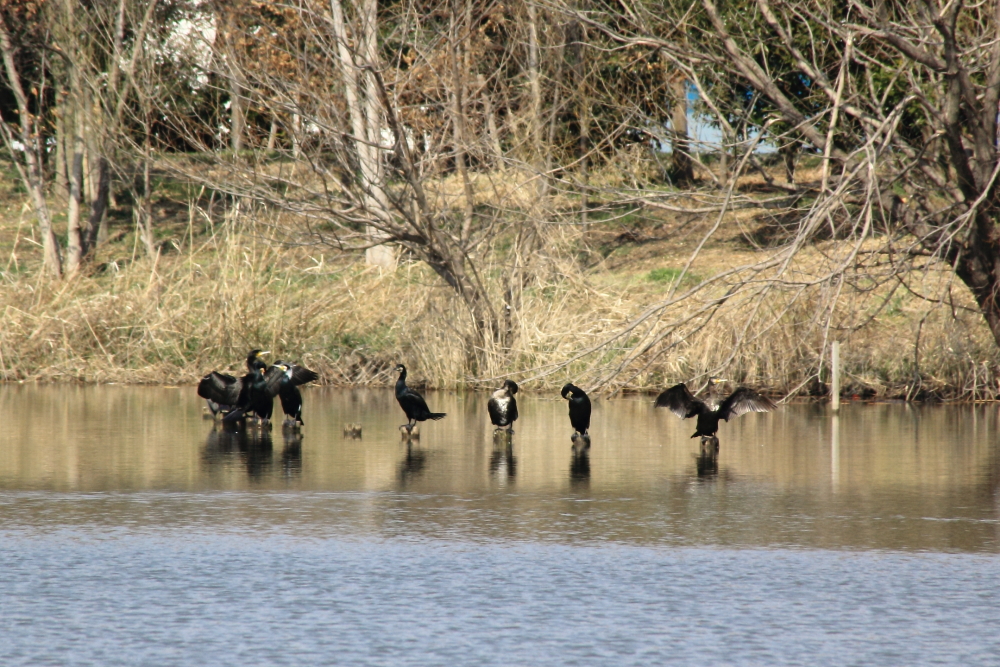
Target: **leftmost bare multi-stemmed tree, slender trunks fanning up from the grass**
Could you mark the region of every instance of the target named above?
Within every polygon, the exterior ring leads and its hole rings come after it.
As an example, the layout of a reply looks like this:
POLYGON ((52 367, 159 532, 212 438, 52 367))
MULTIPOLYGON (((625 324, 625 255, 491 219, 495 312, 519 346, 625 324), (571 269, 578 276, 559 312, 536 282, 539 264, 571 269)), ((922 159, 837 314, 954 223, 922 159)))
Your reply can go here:
MULTIPOLYGON (((126 138, 125 115, 140 90, 134 72, 157 5, 157 0, 89 5, 65 0, 11 4, 0 12, 5 83, 20 117, 17 130, 2 123, 5 143, 22 167, 44 240, 45 265, 55 276, 64 270, 76 273, 102 229, 106 235, 115 147, 126 138), (9 18, 18 19, 16 34, 8 29, 9 18), (50 141, 56 144, 54 161, 47 159, 50 141), (46 199, 52 176, 56 184, 65 184, 65 258, 46 199)), ((123 143, 128 145, 127 138, 123 143)))

